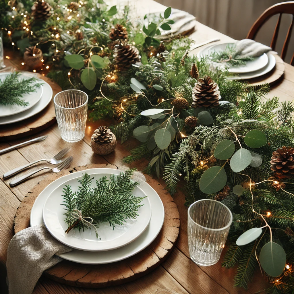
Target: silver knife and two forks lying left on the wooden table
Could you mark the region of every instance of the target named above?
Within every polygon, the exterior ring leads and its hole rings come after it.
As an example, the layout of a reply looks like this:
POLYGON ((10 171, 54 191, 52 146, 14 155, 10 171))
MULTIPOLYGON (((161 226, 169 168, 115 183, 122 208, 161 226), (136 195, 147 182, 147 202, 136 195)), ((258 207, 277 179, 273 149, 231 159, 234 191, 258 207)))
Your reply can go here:
MULTIPOLYGON (((29 145, 31 143, 43 141, 46 138, 47 138, 47 136, 41 136, 41 137, 34 138, 32 140, 29 140, 29 141, 26 141, 26 142, 23 142, 23 143, 20 143, 20 144, 17 144, 17 145, 14 145, 14 146, 11 146, 11 147, 8 147, 8 148, 5 148, 5 149, 2 149, 2 150, 0 150, 0 155, 3 154, 3 153, 9 152, 9 151, 15 150, 17 148, 20 148, 20 147, 29 145)), ((74 158, 72 156, 69 156, 69 157, 63 159, 64 156, 69 152, 69 149, 70 149, 69 146, 66 147, 66 148, 64 148, 64 149, 62 149, 53 158, 50 158, 50 159, 46 159, 46 158, 39 159, 39 160, 36 160, 34 162, 25 164, 24 166, 20 166, 18 168, 14 168, 11 171, 8 171, 8 172, 4 173, 3 179, 6 180, 6 179, 8 179, 8 178, 10 178, 10 177, 12 177, 12 176, 20 173, 21 171, 24 171, 24 170, 28 169, 30 166, 32 166, 32 165, 34 165, 36 163, 39 163, 41 161, 46 161, 47 163, 50 163, 53 166, 45 166, 45 167, 42 167, 42 168, 40 168, 40 169, 38 169, 36 171, 32 171, 30 173, 27 173, 24 176, 21 176, 21 177, 15 179, 15 180, 11 181, 9 183, 9 186, 10 187, 14 187, 14 186, 18 185, 19 183, 25 181, 27 178, 29 178, 29 177, 33 176, 34 174, 38 173, 39 171, 42 171, 42 170, 45 170, 45 169, 50 169, 54 173, 59 173, 60 171, 66 169, 66 168, 69 168, 69 166, 71 165, 72 161, 74 160, 74 158)))

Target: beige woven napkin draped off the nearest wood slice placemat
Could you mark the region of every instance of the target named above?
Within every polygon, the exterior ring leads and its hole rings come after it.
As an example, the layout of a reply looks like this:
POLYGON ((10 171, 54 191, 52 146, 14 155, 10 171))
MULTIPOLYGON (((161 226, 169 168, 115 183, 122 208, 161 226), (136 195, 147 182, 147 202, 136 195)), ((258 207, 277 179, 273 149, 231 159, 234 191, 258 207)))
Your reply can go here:
POLYGON ((44 270, 59 263, 61 254, 73 250, 57 241, 45 225, 36 225, 16 233, 7 250, 9 294, 31 294, 44 270))

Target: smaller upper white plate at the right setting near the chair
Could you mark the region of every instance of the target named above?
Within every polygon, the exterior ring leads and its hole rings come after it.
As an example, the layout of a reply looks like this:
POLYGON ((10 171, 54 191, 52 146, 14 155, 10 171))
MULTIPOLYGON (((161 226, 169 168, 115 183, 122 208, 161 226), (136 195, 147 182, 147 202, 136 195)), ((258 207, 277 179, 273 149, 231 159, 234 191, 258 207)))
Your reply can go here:
MULTIPOLYGON (((206 55, 211 56, 213 52, 220 53, 221 51, 224 51, 227 46, 232 46, 234 43, 222 43, 222 44, 216 44, 212 45, 206 55)), ((218 63, 220 66, 221 63, 218 63)), ((263 53, 263 55, 256 57, 254 60, 247 61, 246 64, 241 66, 231 66, 230 64, 224 64, 223 66, 228 66, 228 71, 234 74, 243 74, 243 73, 249 73, 252 71, 258 71, 265 67, 268 64, 268 56, 263 53)))

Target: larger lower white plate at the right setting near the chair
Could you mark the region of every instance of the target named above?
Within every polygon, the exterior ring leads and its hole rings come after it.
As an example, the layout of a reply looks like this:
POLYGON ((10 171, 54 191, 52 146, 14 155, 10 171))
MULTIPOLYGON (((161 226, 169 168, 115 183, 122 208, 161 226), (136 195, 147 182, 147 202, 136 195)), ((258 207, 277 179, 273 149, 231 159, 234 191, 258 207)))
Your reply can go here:
MULTIPOLYGON (((206 56, 208 50, 212 46, 213 45, 208 46, 208 47, 202 49, 200 52, 198 52, 198 54, 197 54, 198 59, 200 59, 202 56, 206 56)), ((259 76, 263 76, 263 75, 269 73, 275 67, 276 60, 275 60, 275 56, 273 55, 272 52, 268 52, 266 55, 268 56, 268 63, 262 69, 259 69, 258 71, 249 72, 249 73, 236 74, 234 76, 227 76, 226 79, 228 79, 228 80, 247 80, 250 78, 257 78, 259 76)))

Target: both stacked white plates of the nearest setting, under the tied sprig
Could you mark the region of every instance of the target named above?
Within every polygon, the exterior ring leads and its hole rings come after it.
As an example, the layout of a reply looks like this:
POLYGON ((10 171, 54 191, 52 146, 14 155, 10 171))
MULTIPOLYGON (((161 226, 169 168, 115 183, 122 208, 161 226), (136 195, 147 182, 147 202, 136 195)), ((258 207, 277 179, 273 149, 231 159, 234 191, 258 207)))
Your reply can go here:
POLYGON ((71 185, 76 191, 78 179, 87 172, 95 183, 103 176, 119 175, 121 171, 110 168, 93 168, 78 171, 58 178, 50 183, 37 197, 31 210, 31 226, 45 224, 51 235, 60 242, 74 248, 73 251, 60 254, 61 258, 77 263, 105 264, 126 259, 142 251, 159 234, 164 220, 163 203, 156 191, 146 182, 137 186, 132 193, 136 196, 147 196, 143 199, 135 220, 128 220, 123 225, 116 225, 114 230, 108 223, 99 224, 98 233, 101 240, 96 238, 94 229, 85 231, 64 231, 67 225, 64 221, 64 206, 62 205, 62 189, 71 185))

